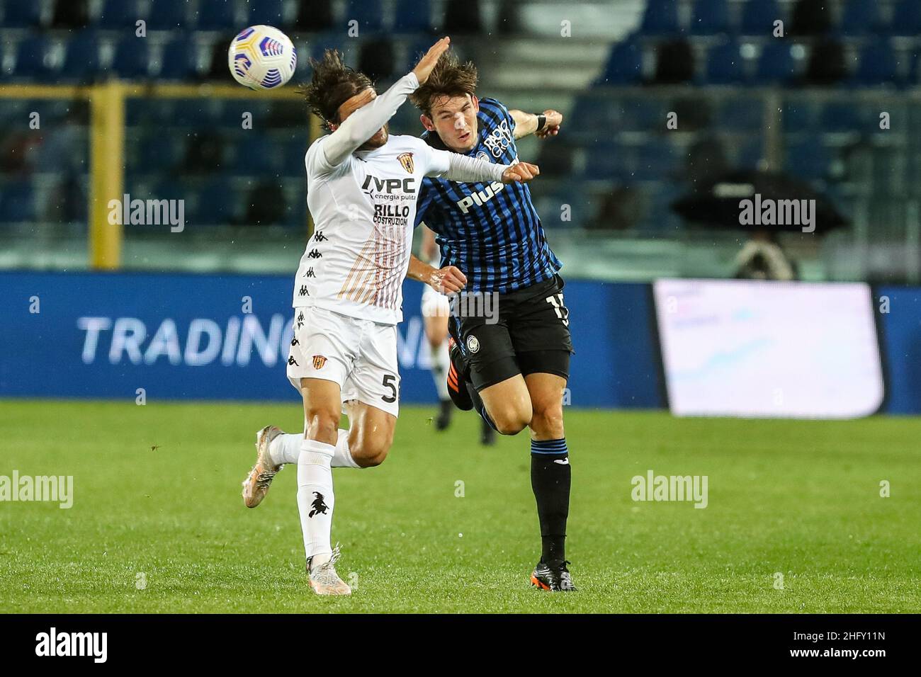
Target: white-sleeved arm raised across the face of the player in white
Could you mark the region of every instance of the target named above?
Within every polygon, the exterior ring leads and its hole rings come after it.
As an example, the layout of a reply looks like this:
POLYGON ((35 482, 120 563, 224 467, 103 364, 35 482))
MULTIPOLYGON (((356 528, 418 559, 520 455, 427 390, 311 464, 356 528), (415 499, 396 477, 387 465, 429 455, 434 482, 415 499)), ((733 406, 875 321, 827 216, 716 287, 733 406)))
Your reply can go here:
POLYGON ((448 50, 449 45, 450 38, 437 41, 411 73, 402 76, 379 97, 375 96, 373 90, 366 89, 361 95, 365 99, 361 108, 337 125, 330 138, 324 142, 323 150, 327 163, 332 167, 342 164, 358 146, 377 134, 406 98, 428 79, 438 57, 448 50))

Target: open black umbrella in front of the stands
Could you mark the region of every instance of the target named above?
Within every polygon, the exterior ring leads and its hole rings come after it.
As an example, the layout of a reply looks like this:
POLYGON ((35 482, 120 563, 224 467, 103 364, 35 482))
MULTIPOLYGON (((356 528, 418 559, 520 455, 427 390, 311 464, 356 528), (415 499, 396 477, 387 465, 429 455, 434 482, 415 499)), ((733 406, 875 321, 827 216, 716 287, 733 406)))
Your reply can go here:
POLYGON ((707 181, 671 204, 689 223, 708 228, 824 235, 848 224, 805 181, 779 172, 740 169, 707 181))

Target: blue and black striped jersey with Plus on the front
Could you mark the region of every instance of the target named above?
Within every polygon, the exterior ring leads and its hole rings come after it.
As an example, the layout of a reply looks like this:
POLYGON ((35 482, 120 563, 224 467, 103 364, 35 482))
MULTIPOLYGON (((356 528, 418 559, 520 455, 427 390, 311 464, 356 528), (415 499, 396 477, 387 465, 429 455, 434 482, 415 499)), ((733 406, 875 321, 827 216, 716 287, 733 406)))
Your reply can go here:
MULTIPOLYGON (((467 155, 503 165, 518 158, 515 121, 495 99, 482 99, 477 113, 479 142, 467 155)), ((445 148, 434 132, 423 138, 445 148)), ((441 265, 467 275, 468 291, 505 293, 542 282, 563 264, 547 245, 530 189, 525 183, 422 181, 415 223, 435 231, 441 265)))

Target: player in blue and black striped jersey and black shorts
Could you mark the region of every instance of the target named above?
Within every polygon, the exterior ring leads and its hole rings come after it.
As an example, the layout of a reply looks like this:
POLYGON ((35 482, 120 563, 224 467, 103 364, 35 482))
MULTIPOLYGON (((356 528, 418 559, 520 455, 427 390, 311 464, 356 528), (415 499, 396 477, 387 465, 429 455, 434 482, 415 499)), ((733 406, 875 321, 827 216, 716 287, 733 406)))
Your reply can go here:
MULTIPOLYGON (((563 116, 557 111, 509 111, 495 99, 477 99, 476 82, 476 67, 448 52, 411 95, 429 145, 514 164, 517 138, 559 131, 563 116)), ((531 488, 542 537, 530 580, 540 589, 573 590, 565 559, 571 470, 563 426, 573 348, 562 263, 547 244, 526 185, 426 179, 417 203, 421 223, 436 233, 442 267, 414 259, 409 275, 427 281, 459 269, 466 283, 461 295, 489 295, 497 310, 471 313, 476 303, 452 304, 451 397, 504 435, 530 428, 531 488)))

